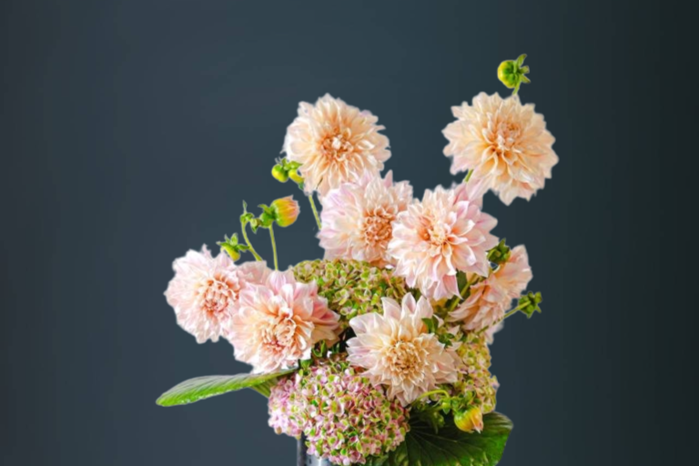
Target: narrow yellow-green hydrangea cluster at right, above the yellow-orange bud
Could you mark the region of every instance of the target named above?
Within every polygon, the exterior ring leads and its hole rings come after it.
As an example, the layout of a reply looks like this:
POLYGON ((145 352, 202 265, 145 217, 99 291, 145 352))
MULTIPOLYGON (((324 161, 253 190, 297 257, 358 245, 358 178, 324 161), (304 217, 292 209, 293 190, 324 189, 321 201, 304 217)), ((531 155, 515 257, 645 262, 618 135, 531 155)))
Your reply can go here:
POLYGON ((491 375, 491 351, 488 349, 486 337, 478 332, 470 332, 464 336, 457 353, 461 356, 466 372, 462 379, 454 384, 454 390, 469 400, 469 406, 477 406, 483 414, 495 410, 495 395, 498 390, 498 380, 491 375))

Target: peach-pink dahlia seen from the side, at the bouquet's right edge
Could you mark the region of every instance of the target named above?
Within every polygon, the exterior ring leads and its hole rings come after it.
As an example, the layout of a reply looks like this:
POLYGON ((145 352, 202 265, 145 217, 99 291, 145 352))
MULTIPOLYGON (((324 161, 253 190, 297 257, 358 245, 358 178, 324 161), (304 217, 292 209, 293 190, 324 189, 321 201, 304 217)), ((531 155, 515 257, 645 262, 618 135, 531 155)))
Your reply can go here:
POLYGON ((487 279, 471 285, 471 294, 451 312, 448 320, 461 322, 467 330, 490 328, 501 321, 512 299, 520 296, 531 279, 527 250, 523 246, 512 248, 507 262, 487 279))

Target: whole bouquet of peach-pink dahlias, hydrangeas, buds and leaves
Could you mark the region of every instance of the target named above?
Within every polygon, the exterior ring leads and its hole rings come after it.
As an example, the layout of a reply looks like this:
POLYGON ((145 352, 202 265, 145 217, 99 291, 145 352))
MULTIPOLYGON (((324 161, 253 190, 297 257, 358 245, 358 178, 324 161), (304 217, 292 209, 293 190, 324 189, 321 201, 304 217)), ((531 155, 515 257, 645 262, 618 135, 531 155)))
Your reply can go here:
POLYGON ((526 291, 526 249, 491 233, 482 197, 530 199, 558 161, 542 115, 517 96, 523 60, 498 70, 512 96, 452 107, 444 155, 466 177, 421 199, 381 177, 391 154, 377 117, 329 95, 301 103, 272 175, 309 198, 325 258, 279 271, 274 227, 298 218, 292 197, 258 216, 244 203, 244 242, 234 234, 216 257, 205 246, 178 258, 165 293, 177 323, 198 343, 228 340, 252 371, 187 380, 157 403, 257 390, 277 433, 336 464, 500 461, 512 423, 494 412, 489 346, 504 319, 532 317, 542 298, 526 291), (248 228, 268 230, 274 269, 248 228), (237 264, 246 253, 254 260, 237 264))

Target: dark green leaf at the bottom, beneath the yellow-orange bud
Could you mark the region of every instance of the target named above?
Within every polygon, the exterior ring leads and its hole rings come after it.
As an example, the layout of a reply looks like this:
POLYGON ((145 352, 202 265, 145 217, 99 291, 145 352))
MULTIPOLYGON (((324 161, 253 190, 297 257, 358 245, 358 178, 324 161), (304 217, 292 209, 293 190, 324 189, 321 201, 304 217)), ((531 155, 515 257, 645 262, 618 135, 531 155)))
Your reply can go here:
POLYGON ((512 421, 500 413, 483 416, 481 433, 460 431, 452 420, 435 434, 422 420, 410 420, 410 432, 388 459, 367 461, 367 466, 494 466, 512 431, 512 421))

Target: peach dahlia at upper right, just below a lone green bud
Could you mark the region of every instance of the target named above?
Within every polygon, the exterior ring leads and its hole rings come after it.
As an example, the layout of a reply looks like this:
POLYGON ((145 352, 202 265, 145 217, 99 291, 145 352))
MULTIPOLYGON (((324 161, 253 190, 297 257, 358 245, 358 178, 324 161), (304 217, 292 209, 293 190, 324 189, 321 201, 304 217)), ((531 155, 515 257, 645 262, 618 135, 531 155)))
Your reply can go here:
POLYGON ((442 131, 449 140, 444 155, 453 157, 451 173, 473 170, 471 180, 483 180, 507 205, 542 189, 558 157, 555 139, 532 104, 481 93, 472 106, 464 102, 451 111, 457 120, 442 131))

